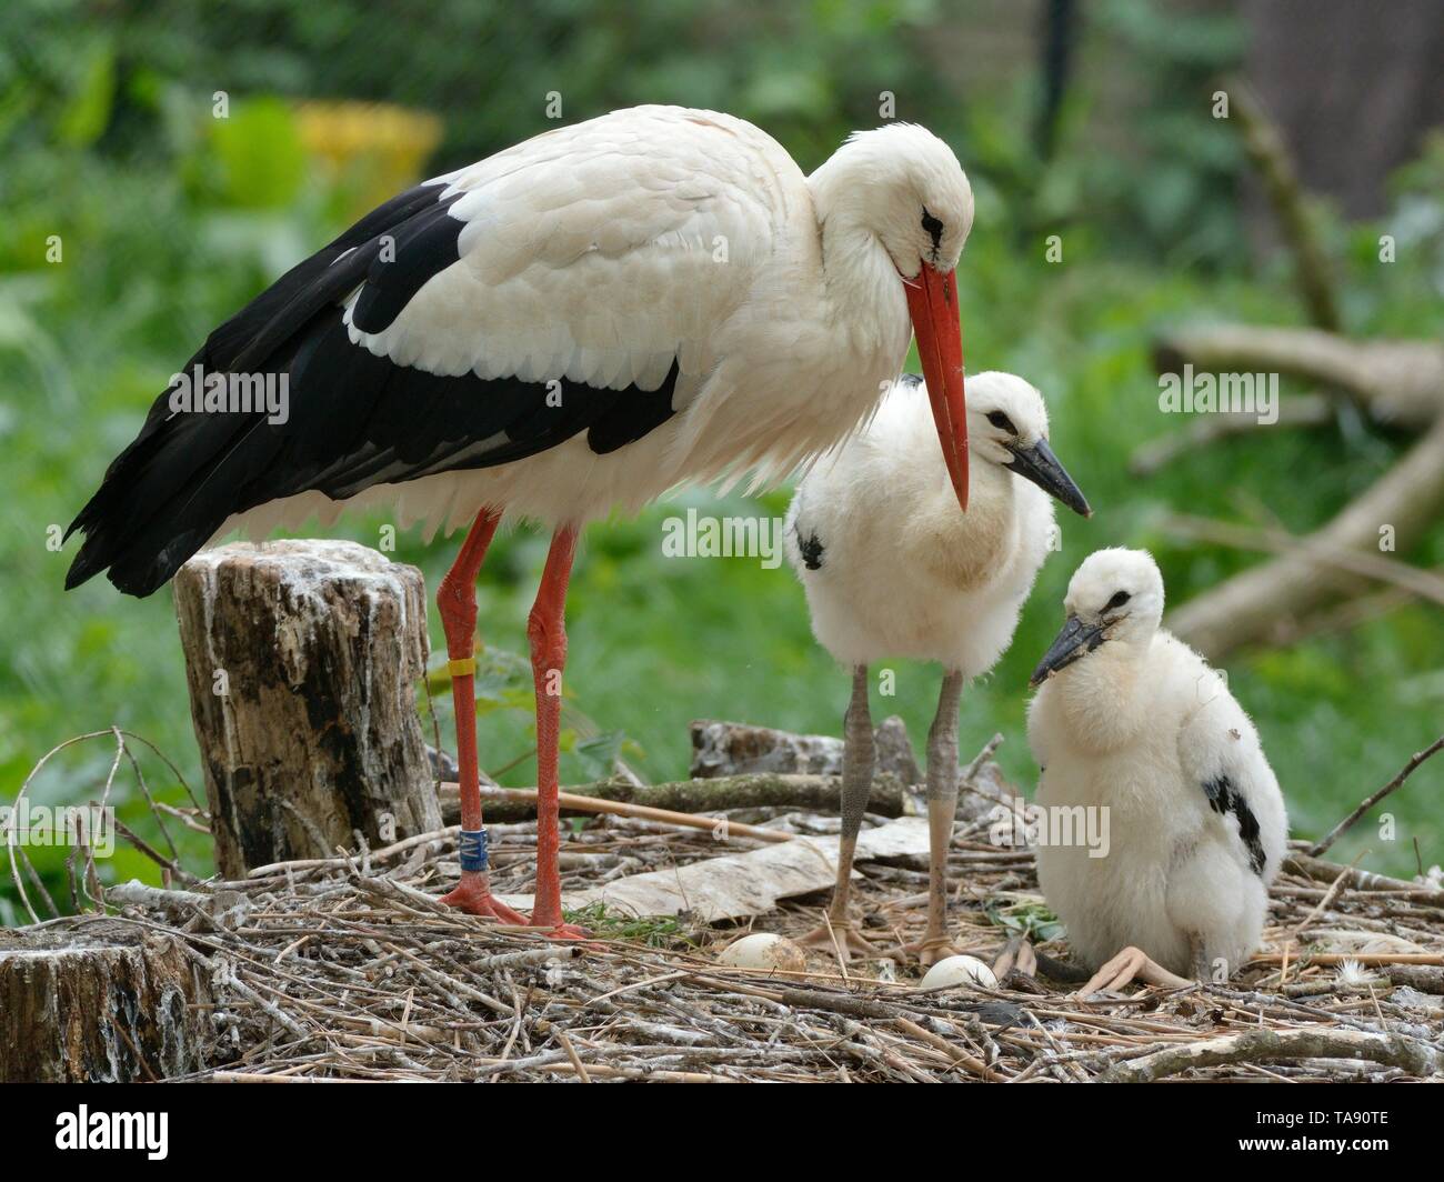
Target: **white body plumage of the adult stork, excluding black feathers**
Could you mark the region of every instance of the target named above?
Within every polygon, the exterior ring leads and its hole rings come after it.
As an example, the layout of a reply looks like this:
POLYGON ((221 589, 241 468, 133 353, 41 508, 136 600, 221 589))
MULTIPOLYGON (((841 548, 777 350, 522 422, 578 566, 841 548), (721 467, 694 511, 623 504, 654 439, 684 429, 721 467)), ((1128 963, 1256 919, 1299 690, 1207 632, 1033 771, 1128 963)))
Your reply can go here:
MULTIPOLYGON (((354 342, 427 373, 560 380, 562 397, 588 396, 573 383, 657 389, 676 360, 676 413, 609 454, 583 433, 344 501, 271 501, 218 536, 238 526, 264 536, 312 514, 328 525, 371 504, 427 536, 482 506, 578 525, 634 512, 683 480, 781 478, 851 431, 902 367, 908 303, 891 231, 877 227, 904 168, 924 178, 923 192, 946 195, 943 251, 956 260, 972 194, 947 146, 910 124, 859 133, 804 176, 744 120, 635 107, 436 178, 443 199, 461 192, 448 212, 465 223, 461 257, 383 332, 360 332, 348 303, 354 342)), ((904 215, 917 234, 911 202, 904 215)))

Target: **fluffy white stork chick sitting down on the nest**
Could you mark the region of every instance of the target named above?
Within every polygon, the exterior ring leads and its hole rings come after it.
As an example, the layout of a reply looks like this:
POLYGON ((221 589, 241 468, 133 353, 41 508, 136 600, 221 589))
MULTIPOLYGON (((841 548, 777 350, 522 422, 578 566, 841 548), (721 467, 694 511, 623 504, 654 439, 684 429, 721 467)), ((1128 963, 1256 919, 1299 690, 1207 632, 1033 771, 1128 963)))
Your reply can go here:
POLYGON ((1063 604, 1032 675, 1028 741, 1040 805, 1109 811, 1106 855, 1038 848, 1048 903, 1100 967, 1083 991, 1232 974, 1258 946, 1288 832, 1258 733, 1223 678, 1160 627, 1147 551, 1090 555, 1063 604))

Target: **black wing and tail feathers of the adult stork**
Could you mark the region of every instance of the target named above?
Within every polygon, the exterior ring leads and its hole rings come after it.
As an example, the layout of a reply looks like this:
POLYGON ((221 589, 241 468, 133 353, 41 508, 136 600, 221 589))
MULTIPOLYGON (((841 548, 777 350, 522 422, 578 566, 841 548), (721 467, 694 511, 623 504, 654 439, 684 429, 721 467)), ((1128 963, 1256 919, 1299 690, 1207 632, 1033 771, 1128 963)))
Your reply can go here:
POLYGON ((429 184, 393 198, 211 332, 186 373, 284 376, 287 420, 178 415, 163 393, 66 532, 85 533, 66 588, 108 569, 121 591, 149 595, 230 516, 267 501, 305 491, 342 500, 505 464, 582 431, 605 454, 671 416, 676 361, 654 390, 567 383, 556 406, 547 380, 439 376, 354 345, 341 309, 357 288, 354 324, 380 332, 456 263, 464 223, 449 214, 456 195, 443 192, 429 184))

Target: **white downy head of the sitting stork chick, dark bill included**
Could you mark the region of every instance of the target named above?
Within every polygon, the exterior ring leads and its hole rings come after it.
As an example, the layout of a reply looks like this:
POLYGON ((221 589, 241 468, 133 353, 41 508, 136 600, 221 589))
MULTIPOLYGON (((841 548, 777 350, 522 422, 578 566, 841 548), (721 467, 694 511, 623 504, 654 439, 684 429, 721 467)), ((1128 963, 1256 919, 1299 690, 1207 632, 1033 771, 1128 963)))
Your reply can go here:
POLYGON ((1063 610, 1063 631, 1032 670, 1030 685, 1043 685, 1106 643, 1149 642, 1164 617, 1164 577, 1148 551, 1095 551, 1073 572, 1063 610))

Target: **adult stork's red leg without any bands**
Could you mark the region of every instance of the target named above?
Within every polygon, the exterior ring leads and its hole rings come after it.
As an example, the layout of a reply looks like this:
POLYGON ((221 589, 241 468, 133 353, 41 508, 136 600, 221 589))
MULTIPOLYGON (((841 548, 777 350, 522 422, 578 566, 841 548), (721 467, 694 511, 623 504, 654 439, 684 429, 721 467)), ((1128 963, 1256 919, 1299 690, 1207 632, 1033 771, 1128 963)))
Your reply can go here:
POLYGON ((580 928, 562 922, 562 874, 557 868, 557 759, 562 735, 562 669, 566 665, 566 585, 576 555, 576 529, 563 526, 552 538, 546 569, 527 620, 531 678, 537 695, 537 894, 533 928, 575 939, 580 928))

